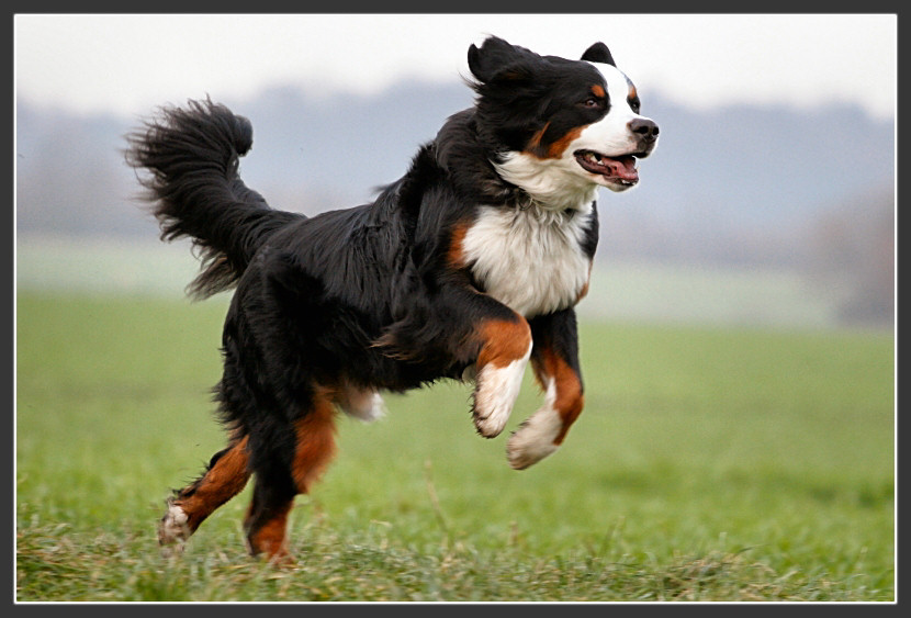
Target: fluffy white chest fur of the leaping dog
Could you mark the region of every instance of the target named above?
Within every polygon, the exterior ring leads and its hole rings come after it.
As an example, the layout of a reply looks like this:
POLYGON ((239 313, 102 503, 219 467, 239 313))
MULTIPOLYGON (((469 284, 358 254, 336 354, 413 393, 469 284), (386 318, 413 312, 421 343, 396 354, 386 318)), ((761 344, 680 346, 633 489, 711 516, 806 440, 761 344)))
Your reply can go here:
POLYGON ((592 260, 583 250, 591 212, 482 206, 462 256, 484 291, 533 317, 578 302, 592 260))

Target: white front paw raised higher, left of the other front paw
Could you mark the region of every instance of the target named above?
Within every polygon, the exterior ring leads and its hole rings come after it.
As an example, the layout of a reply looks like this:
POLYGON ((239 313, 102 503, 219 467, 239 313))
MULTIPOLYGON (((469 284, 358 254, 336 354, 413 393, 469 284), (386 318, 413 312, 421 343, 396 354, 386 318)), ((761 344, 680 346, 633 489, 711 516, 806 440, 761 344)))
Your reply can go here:
POLYGON ((509 413, 513 412, 513 404, 519 396, 529 355, 531 355, 530 346, 522 358, 514 360, 506 367, 485 364, 477 372, 473 418, 477 431, 485 438, 498 436, 506 427, 509 413))

